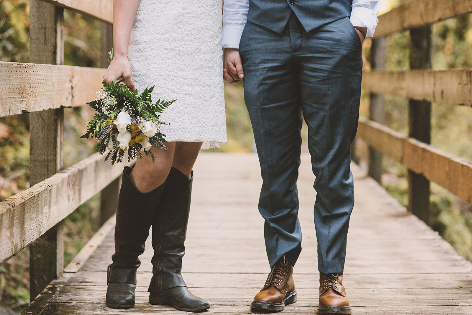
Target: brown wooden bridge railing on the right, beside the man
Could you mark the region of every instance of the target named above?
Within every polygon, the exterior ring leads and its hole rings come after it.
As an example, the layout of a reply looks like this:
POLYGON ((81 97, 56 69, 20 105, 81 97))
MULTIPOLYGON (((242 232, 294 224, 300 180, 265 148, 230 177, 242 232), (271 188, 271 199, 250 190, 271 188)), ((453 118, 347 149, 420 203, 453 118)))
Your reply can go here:
POLYGON ((430 145, 431 102, 472 106, 472 69, 431 68, 431 24, 472 12, 472 0, 410 0, 379 16, 371 46, 371 71, 362 88, 371 92, 370 119, 359 120, 358 137, 369 148, 369 174, 380 181, 382 154, 408 169, 408 208, 428 222, 430 181, 472 203, 472 162, 430 145), (411 70, 385 70, 385 36, 408 30, 411 70), (409 99, 408 135, 384 122, 383 96, 409 99))

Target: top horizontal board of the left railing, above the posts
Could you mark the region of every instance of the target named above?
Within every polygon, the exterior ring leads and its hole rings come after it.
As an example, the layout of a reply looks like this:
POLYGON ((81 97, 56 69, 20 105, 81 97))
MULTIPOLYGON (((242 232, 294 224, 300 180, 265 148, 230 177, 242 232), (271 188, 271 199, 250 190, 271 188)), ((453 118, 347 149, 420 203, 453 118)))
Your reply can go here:
POLYGON ((113 0, 43 0, 113 23, 113 0))

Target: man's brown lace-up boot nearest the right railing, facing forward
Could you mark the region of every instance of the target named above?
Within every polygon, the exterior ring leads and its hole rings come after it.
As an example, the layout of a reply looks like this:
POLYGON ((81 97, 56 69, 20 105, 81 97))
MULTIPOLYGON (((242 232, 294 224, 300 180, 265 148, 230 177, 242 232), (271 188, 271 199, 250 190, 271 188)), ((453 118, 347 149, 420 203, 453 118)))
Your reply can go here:
POLYGON ((320 273, 320 306, 318 314, 351 314, 343 286, 343 274, 320 273))

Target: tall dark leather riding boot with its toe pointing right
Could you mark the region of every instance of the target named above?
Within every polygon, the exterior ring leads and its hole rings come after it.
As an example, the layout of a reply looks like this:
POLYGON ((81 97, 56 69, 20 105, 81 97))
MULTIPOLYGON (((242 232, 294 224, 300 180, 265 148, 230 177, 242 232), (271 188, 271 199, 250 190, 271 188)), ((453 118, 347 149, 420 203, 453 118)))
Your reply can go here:
POLYGON ((165 198, 159 205, 159 215, 152 224, 152 279, 149 303, 169 304, 186 312, 201 312, 210 308, 202 298, 194 296, 180 274, 185 254, 185 236, 192 178, 172 167, 166 180, 165 198))

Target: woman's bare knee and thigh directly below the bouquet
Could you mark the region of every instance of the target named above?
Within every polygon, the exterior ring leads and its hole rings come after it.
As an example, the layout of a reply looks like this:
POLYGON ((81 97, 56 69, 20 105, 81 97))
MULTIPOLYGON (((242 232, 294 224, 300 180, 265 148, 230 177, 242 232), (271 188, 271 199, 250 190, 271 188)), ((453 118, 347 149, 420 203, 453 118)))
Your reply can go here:
POLYGON ((136 166, 131 172, 131 180, 138 191, 145 193, 153 191, 162 185, 169 175, 174 160, 177 142, 166 143, 167 151, 160 148, 152 148, 156 160, 143 154, 143 158, 136 159, 136 166))

